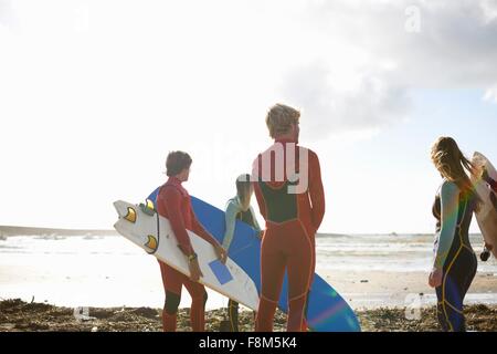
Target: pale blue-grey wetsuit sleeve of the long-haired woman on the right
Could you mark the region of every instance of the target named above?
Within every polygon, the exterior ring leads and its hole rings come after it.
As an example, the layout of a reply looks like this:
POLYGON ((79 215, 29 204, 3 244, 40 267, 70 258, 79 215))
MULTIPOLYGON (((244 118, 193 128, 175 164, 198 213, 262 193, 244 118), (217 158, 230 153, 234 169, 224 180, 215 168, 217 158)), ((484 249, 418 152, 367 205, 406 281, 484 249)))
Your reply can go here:
POLYGON ((434 268, 442 269, 451 250, 457 226, 458 188, 454 183, 445 181, 441 190, 442 228, 438 236, 434 268))

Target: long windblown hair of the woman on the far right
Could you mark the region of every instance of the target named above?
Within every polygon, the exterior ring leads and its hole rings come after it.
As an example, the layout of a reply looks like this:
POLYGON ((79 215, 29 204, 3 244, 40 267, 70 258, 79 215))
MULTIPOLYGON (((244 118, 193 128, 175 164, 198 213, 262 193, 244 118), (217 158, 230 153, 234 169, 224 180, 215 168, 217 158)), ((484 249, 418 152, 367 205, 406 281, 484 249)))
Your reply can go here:
POLYGON ((465 198, 476 197, 477 207, 480 199, 466 174, 477 175, 475 165, 461 152, 457 143, 447 136, 436 139, 432 147, 432 162, 444 178, 457 185, 465 198))

